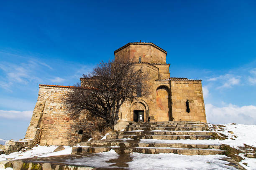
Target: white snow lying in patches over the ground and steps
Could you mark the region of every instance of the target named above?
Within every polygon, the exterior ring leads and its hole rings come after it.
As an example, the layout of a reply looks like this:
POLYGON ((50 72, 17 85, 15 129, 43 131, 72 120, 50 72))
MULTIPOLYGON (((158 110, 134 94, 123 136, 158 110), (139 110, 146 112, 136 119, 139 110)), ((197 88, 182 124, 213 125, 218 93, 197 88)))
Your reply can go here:
MULTIPOLYGON (((216 133, 222 133, 228 136, 226 140, 155 140, 155 139, 142 139, 141 143, 186 143, 186 144, 227 144, 231 147, 237 148, 243 146, 244 143, 256 147, 256 125, 241 125, 241 124, 227 124, 225 127, 214 128, 214 125, 209 124, 210 131, 216 133), (228 133, 228 131, 233 131, 234 134, 228 133), (235 139, 232 140, 231 138, 235 139)), ((154 130, 156 131, 156 130, 154 130)), ((157 130, 158 131, 158 130, 157 130)), ((190 131, 192 132, 192 131, 190 131)), ((102 139, 105 139, 106 134, 102 139)), ((132 139, 121 139, 123 141, 132 140, 132 139)), ((69 146, 64 146, 65 150, 55 152, 53 151, 57 146, 38 146, 34 147, 33 150, 28 150, 26 153, 11 153, 10 155, 0 155, 0 161, 6 160, 6 158, 31 158, 31 157, 47 157, 54 155, 66 155, 70 154, 72 148, 69 146), (22 156, 19 156, 22 155, 22 156)), ((120 155, 115 153, 114 150, 110 150, 105 153, 94 153, 84 156, 83 158, 70 158, 65 160, 65 163, 72 165, 86 165, 96 168, 115 168, 113 164, 108 163, 109 160, 116 159, 120 155)), ((231 166, 228 166, 227 161, 221 160, 223 158, 228 158, 225 155, 178 155, 173 153, 160 153, 160 154, 140 154, 140 153, 131 153, 130 156, 133 158, 132 161, 128 162, 129 165, 126 169, 140 169, 140 170, 183 170, 183 169, 234 169, 231 166)), ((244 168, 248 170, 256 170, 256 159, 247 158, 243 154, 239 154, 244 160, 240 162, 244 168), (247 163, 248 166, 243 165, 242 163, 247 163)))

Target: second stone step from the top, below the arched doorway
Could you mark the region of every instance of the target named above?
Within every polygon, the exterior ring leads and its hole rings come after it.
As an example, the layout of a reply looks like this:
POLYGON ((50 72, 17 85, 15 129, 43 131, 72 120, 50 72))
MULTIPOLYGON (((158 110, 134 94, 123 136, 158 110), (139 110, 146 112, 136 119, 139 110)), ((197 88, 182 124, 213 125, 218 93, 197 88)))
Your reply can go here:
POLYGON ((169 124, 159 124, 159 125, 144 125, 144 124, 131 124, 127 128, 154 128, 154 127, 206 127, 205 124, 182 124, 182 125, 169 125, 169 124))

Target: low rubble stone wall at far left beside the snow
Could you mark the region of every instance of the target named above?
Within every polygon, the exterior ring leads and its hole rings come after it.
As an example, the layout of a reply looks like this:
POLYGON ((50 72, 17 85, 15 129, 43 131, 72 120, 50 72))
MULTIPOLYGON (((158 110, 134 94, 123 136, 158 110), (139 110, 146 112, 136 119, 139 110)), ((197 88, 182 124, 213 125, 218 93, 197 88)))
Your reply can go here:
POLYGON ((1 146, 1 150, 0 154, 10 154, 10 153, 14 153, 14 152, 18 152, 20 150, 23 149, 28 149, 28 148, 33 148, 33 140, 21 140, 21 141, 17 141, 17 140, 8 140, 5 145, 1 146), (2 153, 1 153, 2 152, 2 153))

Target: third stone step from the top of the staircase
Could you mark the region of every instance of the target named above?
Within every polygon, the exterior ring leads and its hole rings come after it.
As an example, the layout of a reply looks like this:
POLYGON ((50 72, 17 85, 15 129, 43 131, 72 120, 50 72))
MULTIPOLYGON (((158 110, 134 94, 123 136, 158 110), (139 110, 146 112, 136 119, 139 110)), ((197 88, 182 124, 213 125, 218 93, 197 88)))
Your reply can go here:
POLYGON ((144 130, 144 131, 151 131, 151 130, 194 130, 194 131, 202 131, 206 130, 204 127, 136 127, 136 128, 125 128, 124 131, 131 131, 131 130, 144 130))

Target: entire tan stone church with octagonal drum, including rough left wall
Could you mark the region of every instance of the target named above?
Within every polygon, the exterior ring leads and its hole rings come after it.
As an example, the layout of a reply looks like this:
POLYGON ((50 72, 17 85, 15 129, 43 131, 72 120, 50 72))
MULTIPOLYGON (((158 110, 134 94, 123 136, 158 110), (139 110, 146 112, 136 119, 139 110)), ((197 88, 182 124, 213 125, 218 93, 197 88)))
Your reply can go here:
MULTIPOLYGON (((150 74, 150 95, 125 102, 120 108, 120 120, 206 122, 202 81, 171 77, 165 50, 154 43, 131 42, 115 50, 114 54, 115 59, 135 61, 135 67, 150 74)), ((39 85, 38 100, 25 139, 33 139, 40 145, 74 145, 82 141, 87 127, 67 114, 61 100, 70 88, 39 85)))

